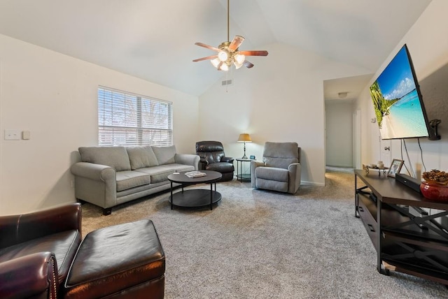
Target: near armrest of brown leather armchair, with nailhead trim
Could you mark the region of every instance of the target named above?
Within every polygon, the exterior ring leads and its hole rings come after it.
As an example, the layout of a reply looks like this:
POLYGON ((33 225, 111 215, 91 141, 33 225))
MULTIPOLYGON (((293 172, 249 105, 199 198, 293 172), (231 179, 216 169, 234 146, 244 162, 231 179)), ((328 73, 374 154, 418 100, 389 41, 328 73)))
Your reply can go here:
POLYGON ((57 298, 55 254, 38 252, 0 263, 0 298, 57 298))

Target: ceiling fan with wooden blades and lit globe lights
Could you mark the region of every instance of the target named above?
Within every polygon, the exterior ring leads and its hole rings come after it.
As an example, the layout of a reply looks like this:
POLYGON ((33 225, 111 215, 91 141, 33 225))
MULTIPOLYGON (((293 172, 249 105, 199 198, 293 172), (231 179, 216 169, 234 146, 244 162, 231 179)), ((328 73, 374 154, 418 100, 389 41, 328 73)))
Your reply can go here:
POLYGON ((227 0, 227 41, 218 45, 218 48, 211 45, 206 45, 204 43, 195 43, 200 47, 204 47, 210 50, 214 50, 217 53, 211 56, 202 57, 193 60, 193 62, 209 60, 211 59, 211 64, 213 64, 218 71, 228 71, 229 68, 235 65, 235 68, 241 68, 241 66, 246 66, 246 68, 253 67, 253 64, 246 60, 246 56, 267 56, 267 51, 265 50, 250 50, 250 51, 239 51, 239 46, 244 41, 243 36, 235 36, 232 42, 229 38, 229 1, 227 0))

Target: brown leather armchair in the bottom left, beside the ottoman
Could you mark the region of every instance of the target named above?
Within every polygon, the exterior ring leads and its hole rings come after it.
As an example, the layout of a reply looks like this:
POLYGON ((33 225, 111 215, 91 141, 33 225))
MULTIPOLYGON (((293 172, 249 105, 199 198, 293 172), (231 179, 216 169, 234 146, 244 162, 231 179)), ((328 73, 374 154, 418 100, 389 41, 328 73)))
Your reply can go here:
POLYGON ((79 203, 0 217, 0 298, 56 298, 81 242, 79 203))

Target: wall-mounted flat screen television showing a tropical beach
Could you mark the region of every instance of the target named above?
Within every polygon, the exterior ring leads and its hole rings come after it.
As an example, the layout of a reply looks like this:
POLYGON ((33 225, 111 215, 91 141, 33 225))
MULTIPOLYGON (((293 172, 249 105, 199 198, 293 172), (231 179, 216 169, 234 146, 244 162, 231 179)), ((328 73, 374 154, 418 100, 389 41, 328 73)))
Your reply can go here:
POLYGON ((429 136, 428 117, 407 45, 370 86, 370 96, 381 139, 429 136))

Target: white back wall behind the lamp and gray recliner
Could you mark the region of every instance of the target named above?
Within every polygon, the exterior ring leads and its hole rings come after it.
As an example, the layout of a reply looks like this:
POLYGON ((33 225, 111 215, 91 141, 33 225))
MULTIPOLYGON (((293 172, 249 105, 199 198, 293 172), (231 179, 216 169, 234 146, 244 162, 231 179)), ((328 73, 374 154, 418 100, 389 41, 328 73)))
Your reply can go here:
POLYGON ((217 82, 200 96, 201 138, 220 140, 226 155, 239 157, 239 133, 250 133, 246 154, 257 158, 266 141, 295 141, 302 147, 302 182, 323 185, 323 81, 369 72, 288 45, 262 48, 269 55, 248 57, 255 66, 234 71, 228 92, 217 82))

